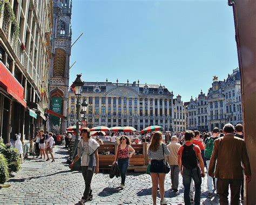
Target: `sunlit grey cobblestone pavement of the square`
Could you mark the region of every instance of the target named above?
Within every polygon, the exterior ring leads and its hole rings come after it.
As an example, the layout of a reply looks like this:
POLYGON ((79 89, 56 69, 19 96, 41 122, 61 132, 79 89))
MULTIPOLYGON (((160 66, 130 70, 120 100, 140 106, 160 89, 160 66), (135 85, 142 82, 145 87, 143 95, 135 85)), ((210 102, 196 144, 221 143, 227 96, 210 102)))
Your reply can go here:
MULTIPOLYGON (((84 191, 82 173, 71 172, 64 147, 55 148, 55 162, 42 159, 26 160, 22 169, 0 189, 0 204, 75 204, 84 191)), ((170 174, 166 175, 165 197, 169 204, 184 204, 180 176, 179 192, 171 191, 170 174)), ((207 178, 203 179, 201 204, 219 204, 218 197, 207 198, 207 178)), ((110 179, 108 174, 93 176, 93 200, 86 204, 152 204, 150 175, 127 173, 126 186, 118 188, 120 178, 110 179)), ((158 204, 159 194, 158 194, 158 204)))

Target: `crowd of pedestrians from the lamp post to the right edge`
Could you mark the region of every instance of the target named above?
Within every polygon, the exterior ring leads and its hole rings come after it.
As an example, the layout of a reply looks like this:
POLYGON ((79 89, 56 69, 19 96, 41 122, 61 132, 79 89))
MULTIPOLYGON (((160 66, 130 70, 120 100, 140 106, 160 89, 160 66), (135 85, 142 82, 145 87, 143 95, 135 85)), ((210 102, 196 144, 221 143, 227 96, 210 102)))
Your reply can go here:
MULTIPOLYGON (((248 159, 242 125, 235 127, 226 124, 223 130, 214 128, 212 132, 200 133, 187 130, 170 136, 170 143, 166 144, 163 133, 156 131, 151 136, 135 138, 133 144, 149 143, 148 171, 152 179, 153 204, 157 201, 157 192, 160 192, 160 204, 168 203, 164 197, 165 176, 171 172, 173 192, 178 194, 179 173, 183 177, 184 202, 199 205, 201 197, 201 182, 206 176, 208 197, 219 196, 221 205, 228 205, 228 189, 231 190, 231 204, 239 204, 244 200, 244 179, 251 181, 251 167, 248 159), (149 140, 150 139, 150 140, 149 140), (241 198, 240 198, 241 195, 241 198)), ((170 134, 169 134, 170 135, 170 134)), ((99 172, 97 140, 90 135, 89 128, 83 128, 78 144, 78 152, 70 164, 70 168, 79 158, 81 159, 82 174, 85 181, 85 190, 79 204, 92 199, 91 181, 93 173, 99 172)), ((166 136, 165 136, 166 139, 166 136)), ((118 149, 115 154, 111 171, 113 175, 120 172, 121 185, 125 187, 126 172, 130 158, 134 154, 129 137, 112 135, 111 141, 117 140, 118 149)))

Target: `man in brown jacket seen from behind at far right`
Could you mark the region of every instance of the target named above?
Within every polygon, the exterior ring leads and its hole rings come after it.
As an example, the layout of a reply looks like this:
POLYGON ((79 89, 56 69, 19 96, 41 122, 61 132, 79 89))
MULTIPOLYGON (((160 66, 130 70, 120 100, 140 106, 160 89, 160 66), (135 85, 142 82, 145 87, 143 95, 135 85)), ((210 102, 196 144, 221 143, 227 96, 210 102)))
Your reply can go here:
POLYGON ((252 178, 245 141, 235 137, 234 130, 234 126, 228 123, 223 129, 224 137, 214 140, 213 153, 208 169, 210 176, 218 178, 217 192, 220 205, 228 204, 229 186, 231 190, 231 204, 239 204, 240 187, 242 179, 244 179, 243 169, 246 181, 250 182, 252 178))

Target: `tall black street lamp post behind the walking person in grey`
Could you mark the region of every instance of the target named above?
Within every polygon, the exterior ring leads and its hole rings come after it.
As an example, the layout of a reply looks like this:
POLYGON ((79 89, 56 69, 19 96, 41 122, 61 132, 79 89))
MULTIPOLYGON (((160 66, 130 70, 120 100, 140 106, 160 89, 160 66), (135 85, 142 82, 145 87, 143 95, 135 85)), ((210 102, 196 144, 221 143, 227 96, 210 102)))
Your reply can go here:
MULTIPOLYGON (((77 97, 77 104, 76 104, 76 109, 77 109, 77 117, 76 117, 76 139, 75 139, 75 144, 73 145, 73 158, 75 159, 77 155, 77 145, 79 143, 79 118, 80 118, 80 100, 81 100, 81 89, 84 85, 84 82, 80 79, 82 75, 78 74, 76 80, 73 82, 73 90, 75 91, 75 95, 77 97)), ((76 164, 73 166, 74 170, 80 170, 81 169, 81 161, 78 160, 76 164)))

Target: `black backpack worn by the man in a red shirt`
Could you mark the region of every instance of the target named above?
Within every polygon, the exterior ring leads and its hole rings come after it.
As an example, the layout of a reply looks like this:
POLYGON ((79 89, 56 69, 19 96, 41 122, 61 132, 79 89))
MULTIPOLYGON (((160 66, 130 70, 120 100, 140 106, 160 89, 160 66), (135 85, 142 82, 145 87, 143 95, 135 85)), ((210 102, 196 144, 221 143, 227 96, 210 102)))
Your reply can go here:
POLYGON ((193 149, 194 145, 186 146, 184 144, 183 147, 184 150, 181 155, 181 164, 187 169, 198 167, 198 158, 196 156, 196 152, 193 149))

